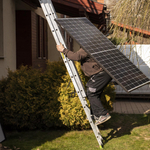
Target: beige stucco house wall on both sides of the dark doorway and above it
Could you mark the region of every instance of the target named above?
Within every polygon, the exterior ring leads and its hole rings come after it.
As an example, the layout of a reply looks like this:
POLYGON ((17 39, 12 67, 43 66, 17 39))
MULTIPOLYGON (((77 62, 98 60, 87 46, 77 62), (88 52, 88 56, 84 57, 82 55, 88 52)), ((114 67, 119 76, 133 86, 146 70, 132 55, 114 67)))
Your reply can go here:
MULTIPOLYGON (((34 9, 21 0, 1 0, 3 6, 0 13, 1 25, 3 27, 3 36, 0 38, 3 42, 4 58, 0 59, 0 79, 7 76, 7 69, 16 70, 16 10, 31 10, 38 15, 45 17, 41 8, 34 9), (2 19, 3 18, 3 19, 2 19)), ((56 44, 52 33, 48 27, 48 59, 56 61, 60 59, 60 54, 56 50, 56 44)))

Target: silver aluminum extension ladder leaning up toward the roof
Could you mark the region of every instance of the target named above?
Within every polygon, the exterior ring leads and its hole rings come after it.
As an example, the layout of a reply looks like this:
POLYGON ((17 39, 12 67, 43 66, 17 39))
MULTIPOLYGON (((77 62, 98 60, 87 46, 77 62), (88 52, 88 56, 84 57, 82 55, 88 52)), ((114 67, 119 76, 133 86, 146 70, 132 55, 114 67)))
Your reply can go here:
MULTIPOLYGON (((62 37, 61 32, 60 32, 60 29, 59 29, 59 27, 55 21, 55 19, 57 18, 57 15, 56 15, 55 9, 53 7, 52 1, 51 0, 39 0, 39 2, 41 4, 41 7, 43 9, 43 12, 45 14, 45 17, 47 19, 47 22, 49 24, 50 30, 53 34, 53 37, 55 39, 56 44, 62 43, 64 45, 64 47, 66 48, 65 42, 64 42, 63 37, 62 37)), ((70 78, 73 82, 75 90, 76 90, 78 97, 81 101, 81 104, 84 108, 87 119, 89 120, 89 123, 92 127, 92 130, 93 130, 93 132, 96 136, 96 139, 99 143, 100 149, 102 149, 103 138, 100 134, 98 127, 94 124, 94 122, 91 118, 90 109, 88 108, 88 104, 87 104, 87 101, 85 99, 85 97, 86 97, 85 90, 83 88, 83 85, 82 85, 82 82, 81 82, 80 77, 78 75, 78 72, 76 70, 76 67, 71 60, 69 60, 67 57, 65 57, 62 53, 60 53, 60 54, 61 54, 61 57, 62 57, 64 63, 65 63, 65 66, 69 72, 70 78)))

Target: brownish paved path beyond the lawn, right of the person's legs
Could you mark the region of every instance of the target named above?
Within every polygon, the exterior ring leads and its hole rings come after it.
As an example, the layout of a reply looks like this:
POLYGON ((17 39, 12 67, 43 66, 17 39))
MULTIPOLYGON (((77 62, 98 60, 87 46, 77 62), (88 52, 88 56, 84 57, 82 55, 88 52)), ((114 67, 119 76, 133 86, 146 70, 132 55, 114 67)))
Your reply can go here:
POLYGON ((116 101, 113 112, 122 114, 150 114, 150 101, 116 101))

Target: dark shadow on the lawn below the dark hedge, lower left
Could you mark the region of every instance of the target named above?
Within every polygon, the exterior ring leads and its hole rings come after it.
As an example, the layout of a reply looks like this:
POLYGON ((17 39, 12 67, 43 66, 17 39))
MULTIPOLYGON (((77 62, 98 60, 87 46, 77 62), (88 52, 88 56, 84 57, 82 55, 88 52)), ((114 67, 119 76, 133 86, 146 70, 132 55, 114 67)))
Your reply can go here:
MULTIPOLYGON (((2 142, 2 145, 11 148, 12 150, 16 150, 17 148, 20 148, 21 150, 32 150, 46 142, 61 137, 67 132, 68 130, 62 129, 6 132, 6 140, 2 142), (16 147, 16 149, 14 147, 16 147)), ((55 148, 53 148, 53 150, 55 150, 55 148)))

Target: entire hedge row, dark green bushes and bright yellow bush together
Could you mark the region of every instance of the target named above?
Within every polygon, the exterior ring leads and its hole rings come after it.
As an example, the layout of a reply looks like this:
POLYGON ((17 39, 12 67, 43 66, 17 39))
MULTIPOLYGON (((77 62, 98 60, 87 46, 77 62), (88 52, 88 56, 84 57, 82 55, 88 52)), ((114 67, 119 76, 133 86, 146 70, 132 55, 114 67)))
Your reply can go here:
MULTIPOLYGON (((87 78, 77 69, 83 84, 87 78)), ((22 66, 0 81, 0 120, 13 129, 47 129, 64 127, 89 128, 80 100, 64 63, 49 62, 45 72, 22 66)), ((114 86, 108 85, 102 95, 106 108, 112 109, 114 86)))

